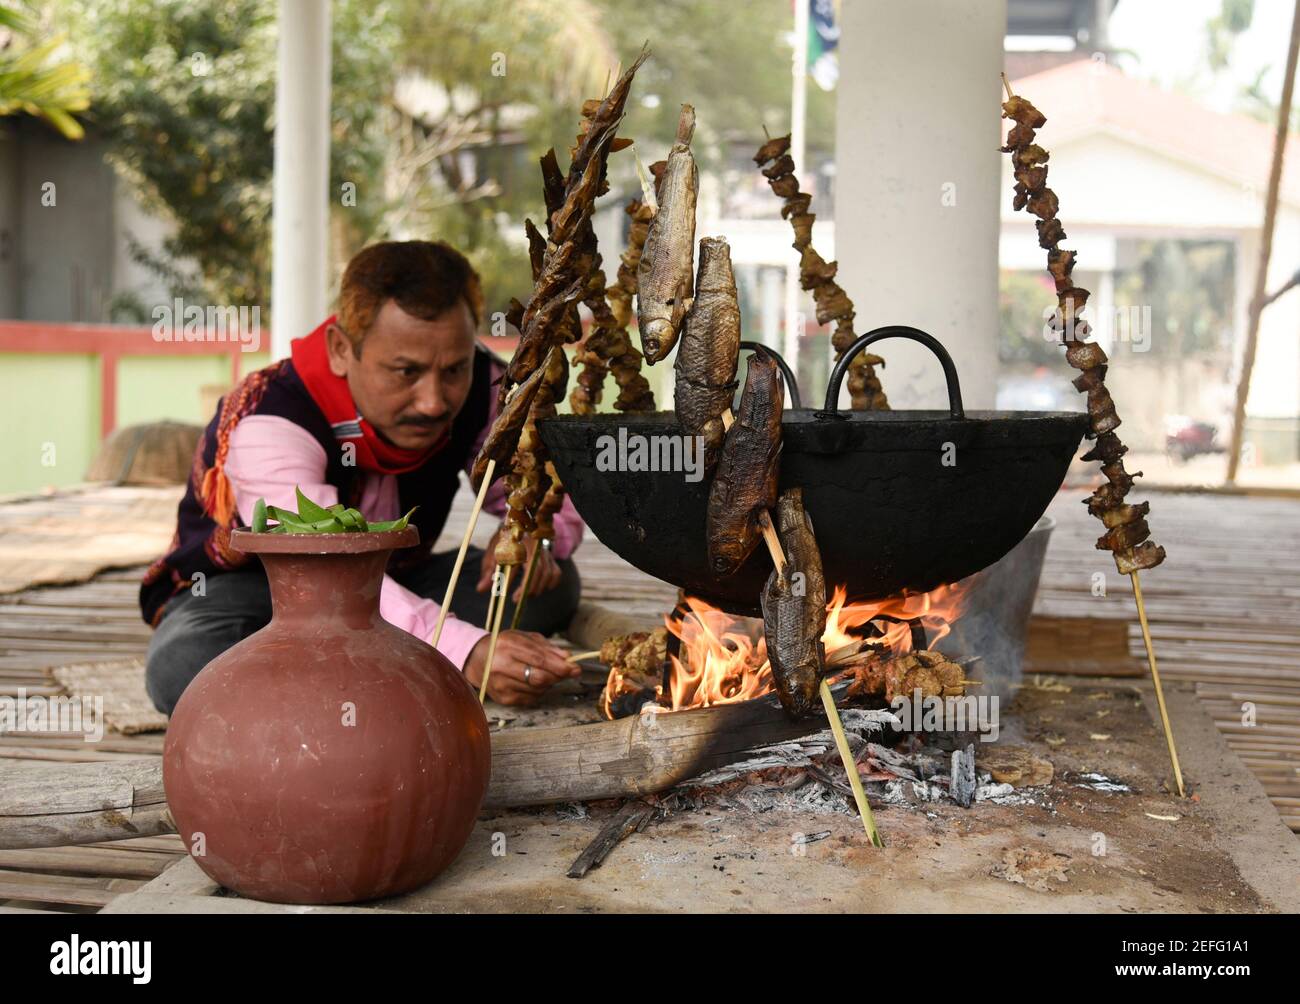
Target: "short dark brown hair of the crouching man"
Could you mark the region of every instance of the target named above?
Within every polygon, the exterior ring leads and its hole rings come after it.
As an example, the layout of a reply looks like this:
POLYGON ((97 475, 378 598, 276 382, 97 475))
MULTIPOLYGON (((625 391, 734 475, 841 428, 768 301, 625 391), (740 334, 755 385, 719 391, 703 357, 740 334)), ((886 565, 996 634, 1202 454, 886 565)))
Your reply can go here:
POLYGON ((386 300, 432 321, 464 300, 477 326, 482 284, 473 265, 442 241, 381 241, 361 248, 343 271, 338 320, 360 354, 361 341, 386 300))

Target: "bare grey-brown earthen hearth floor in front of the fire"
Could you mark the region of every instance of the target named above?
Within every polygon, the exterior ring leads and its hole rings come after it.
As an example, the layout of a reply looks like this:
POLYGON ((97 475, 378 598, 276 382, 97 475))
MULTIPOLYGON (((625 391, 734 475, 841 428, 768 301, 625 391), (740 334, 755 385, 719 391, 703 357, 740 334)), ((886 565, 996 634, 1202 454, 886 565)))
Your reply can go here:
MULTIPOLYGON (((883 851, 842 814, 677 812, 632 834, 582 879, 564 873, 615 802, 590 806, 586 818, 564 806, 507 812, 482 818, 438 880, 374 906, 439 913, 1300 910, 1295 836, 1195 696, 1175 689, 1169 700, 1190 800, 1167 789, 1158 719, 1139 689, 1031 680, 1004 710, 997 743, 1054 766, 1050 784, 1017 789, 1024 804, 878 805, 883 851), (1106 789, 1110 783, 1121 789, 1106 789)), ((550 724, 571 714, 551 709, 540 718, 550 724)))

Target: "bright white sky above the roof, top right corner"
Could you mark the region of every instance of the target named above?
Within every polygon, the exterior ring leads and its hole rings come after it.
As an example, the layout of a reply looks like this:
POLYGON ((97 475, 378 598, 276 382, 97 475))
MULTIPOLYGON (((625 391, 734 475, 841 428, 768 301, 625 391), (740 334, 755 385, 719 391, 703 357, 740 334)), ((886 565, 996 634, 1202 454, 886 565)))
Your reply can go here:
POLYGON ((1187 90, 1219 112, 1240 111, 1242 87, 1268 65, 1265 91, 1277 101, 1295 4, 1256 0, 1251 27, 1238 36, 1227 70, 1214 79, 1206 69, 1205 25, 1218 10, 1219 0, 1119 0, 1110 18, 1110 44, 1136 53, 1136 64, 1121 62, 1126 72, 1187 90))

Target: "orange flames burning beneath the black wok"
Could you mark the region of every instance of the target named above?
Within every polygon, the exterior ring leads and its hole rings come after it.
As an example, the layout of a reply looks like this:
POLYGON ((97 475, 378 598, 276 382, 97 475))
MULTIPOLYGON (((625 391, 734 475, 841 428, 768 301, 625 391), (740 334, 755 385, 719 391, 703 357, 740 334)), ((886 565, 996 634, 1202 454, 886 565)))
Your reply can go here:
MULTIPOLYGON (((900 623, 875 620, 881 633, 871 639, 872 645, 894 654, 910 652, 911 626, 906 622, 919 618, 927 644, 933 646, 959 616, 965 592, 961 584, 941 585, 928 593, 850 603, 848 590, 837 585, 827 605, 826 652, 829 655, 868 637, 867 631, 853 632, 880 616, 894 616, 900 623)), ((681 641, 680 653, 670 657, 673 711, 748 701, 775 689, 760 620, 733 616, 697 597, 686 597, 685 603, 689 614, 680 620, 664 618, 668 631, 681 641)))

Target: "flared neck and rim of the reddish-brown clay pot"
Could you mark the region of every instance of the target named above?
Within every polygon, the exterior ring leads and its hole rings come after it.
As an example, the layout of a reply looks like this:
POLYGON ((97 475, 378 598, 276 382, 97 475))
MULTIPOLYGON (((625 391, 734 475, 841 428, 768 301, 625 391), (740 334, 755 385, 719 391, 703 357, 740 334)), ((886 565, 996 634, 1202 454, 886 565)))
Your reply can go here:
POLYGON ((266 568, 276 620, 329 618, 354 629, 380 620, 380 588, 389 555, 420 541, 407 527, 386 533, 254 533, 237 529, 230 545, 266 568))

